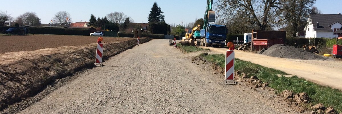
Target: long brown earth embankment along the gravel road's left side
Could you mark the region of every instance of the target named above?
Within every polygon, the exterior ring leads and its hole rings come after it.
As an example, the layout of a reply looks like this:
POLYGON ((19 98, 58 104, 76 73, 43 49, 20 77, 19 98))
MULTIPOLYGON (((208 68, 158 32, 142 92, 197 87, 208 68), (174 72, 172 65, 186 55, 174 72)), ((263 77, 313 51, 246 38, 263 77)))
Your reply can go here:
MULTIPOLYGON (((148 42, 150 38, 141 38, 148 42)), ((107 59, 136 45, 136 39, 105 42, 107 59)), ((51 81, 93 67, 96 43, 0 54, 0 110, 34 96, 51 81)))

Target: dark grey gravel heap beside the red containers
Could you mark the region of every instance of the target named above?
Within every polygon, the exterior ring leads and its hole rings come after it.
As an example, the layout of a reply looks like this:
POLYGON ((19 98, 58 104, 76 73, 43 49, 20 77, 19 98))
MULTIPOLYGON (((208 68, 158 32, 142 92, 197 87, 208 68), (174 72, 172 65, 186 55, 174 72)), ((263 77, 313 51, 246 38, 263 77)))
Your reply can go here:
POLYGON ((302 59, 302 60, 317 60, 324 59, 322 56, 311 52, 304 51, 301 48, 295 48, 286 45, 273 45, 265 50, 262 54, 274 56, 278 58, 302 59))

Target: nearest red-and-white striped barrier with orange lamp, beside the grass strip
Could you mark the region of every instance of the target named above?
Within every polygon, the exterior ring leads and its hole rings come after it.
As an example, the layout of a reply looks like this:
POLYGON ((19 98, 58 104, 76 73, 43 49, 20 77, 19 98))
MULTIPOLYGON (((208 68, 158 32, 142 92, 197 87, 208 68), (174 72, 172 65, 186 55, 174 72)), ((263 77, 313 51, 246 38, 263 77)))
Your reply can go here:
POLYGON ((236 81, 234 80, 234 56, 234 50, 226 51, 225 84, 236 84, 236 81))

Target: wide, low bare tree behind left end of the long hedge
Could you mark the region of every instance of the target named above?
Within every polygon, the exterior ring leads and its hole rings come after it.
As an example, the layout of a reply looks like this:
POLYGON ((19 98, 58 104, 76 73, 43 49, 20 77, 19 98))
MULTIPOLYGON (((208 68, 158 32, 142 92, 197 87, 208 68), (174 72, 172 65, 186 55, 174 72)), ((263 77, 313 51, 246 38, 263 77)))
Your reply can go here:
MULTIPOLYGON (((35 12, 26 12, 16 18, 16 22, 21 25, 40 26, 40 18, 35 12)), ((19 24, 19 25, 20 25, 19 24)))

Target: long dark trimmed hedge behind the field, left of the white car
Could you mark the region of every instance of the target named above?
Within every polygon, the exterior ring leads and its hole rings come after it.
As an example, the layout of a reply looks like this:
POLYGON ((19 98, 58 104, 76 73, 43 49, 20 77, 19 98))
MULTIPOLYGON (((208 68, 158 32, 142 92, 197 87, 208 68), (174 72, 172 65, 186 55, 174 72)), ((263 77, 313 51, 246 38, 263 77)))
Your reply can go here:
POLYGON ((30 34, 83 35, 89 36, 89 29, 29 27, 30 34))

